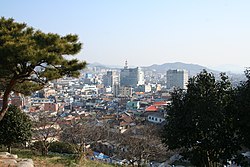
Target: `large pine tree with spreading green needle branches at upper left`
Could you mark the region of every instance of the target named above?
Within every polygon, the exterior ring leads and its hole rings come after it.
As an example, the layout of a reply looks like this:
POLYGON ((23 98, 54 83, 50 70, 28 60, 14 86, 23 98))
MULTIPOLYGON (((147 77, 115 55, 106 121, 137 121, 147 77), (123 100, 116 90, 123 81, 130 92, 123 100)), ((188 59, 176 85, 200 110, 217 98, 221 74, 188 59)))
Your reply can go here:
POLYGON ((81 47, 77 35, 43 33, 25 23, 0 18, 0 121, 8 109, 11 91, 29 94, 50 80, 77 77, 86 62, 68 60, 64 55, 75 55, 81 47))

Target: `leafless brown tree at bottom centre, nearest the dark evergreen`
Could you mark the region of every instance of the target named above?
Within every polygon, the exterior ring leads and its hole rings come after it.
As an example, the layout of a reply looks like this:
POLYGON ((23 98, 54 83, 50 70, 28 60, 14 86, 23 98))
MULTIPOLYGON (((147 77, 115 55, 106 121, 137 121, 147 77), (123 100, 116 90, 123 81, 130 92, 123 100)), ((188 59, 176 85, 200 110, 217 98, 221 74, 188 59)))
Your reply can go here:
POLYGON ((149 160, 164 160, 166 148, 158 136, 158 129, 152 125, 131 128, 122 134, 117 154, 132 166, 141 166, 149 160))

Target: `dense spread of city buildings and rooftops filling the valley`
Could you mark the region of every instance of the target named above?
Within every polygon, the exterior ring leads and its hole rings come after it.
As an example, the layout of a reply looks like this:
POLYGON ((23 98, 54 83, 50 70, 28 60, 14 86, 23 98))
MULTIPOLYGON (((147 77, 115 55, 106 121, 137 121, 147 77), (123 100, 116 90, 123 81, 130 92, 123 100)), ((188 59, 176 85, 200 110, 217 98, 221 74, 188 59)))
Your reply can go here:
MULTIPOLYGON (((165 82, 164 74, 147 72, 144 76, 143 69, 128 68, 126 62, 123 69, 93 67, 82 71, 79 78, 64 77, 51 81, 46 88, 34 92, 32 96, 11 94, 9 104, 17 105, 34 121, 42 122, 42 115, 46 119, 55 120, 55 132, 62 131, 71 122, 84 120, 93 129, 105 127, 107 133, 124 135, 130 141, 131 131, 136 132, 133 136, 137 137, 138 129, 165 124, 166 106, 170 102, 170 94, 162 84, 165 82)), ((1 103, 0 98, 0 107, 1 103)), ((47 127, 36 127, 36 137, 39 137, 39 133, 44 134, 47 127)), ((34 138, 32 142, 37 140, 41 139, 34 138)), ((61 139, 55 133, 46 140, 61 139)), ((146 141, 149 140, 152 139, 146 141)), ((101 139, 98 145, 87 144, 94 151, 114 157, 121 144, 119 142, 101 139)), ((114 163, 115 159, 112 161, 114 163)), ((117 161, 120 162, 119 159, 117 161)))

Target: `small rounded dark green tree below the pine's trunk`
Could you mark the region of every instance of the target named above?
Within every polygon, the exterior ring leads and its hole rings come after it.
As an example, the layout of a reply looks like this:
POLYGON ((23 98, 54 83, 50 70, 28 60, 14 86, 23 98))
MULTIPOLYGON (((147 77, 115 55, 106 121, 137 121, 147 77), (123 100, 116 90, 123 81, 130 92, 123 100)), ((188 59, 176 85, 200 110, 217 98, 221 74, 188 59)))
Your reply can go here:
POLYGON ((10 106, 0 121, 0 144, 9 148, 13 144, 25 143, 31 139, 31 120, 16 106, 10 106))

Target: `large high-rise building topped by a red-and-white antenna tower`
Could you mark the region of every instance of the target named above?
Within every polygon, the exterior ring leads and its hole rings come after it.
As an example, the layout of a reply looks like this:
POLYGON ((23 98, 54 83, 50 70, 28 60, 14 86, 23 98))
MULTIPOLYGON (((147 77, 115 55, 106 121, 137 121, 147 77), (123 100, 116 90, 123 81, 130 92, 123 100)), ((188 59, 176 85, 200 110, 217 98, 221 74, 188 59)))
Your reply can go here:
POLYGON ((127 61, 120 72, 120 86, 136 87, 144 84, 144 73, 141 68, 128 68, 127 61))

